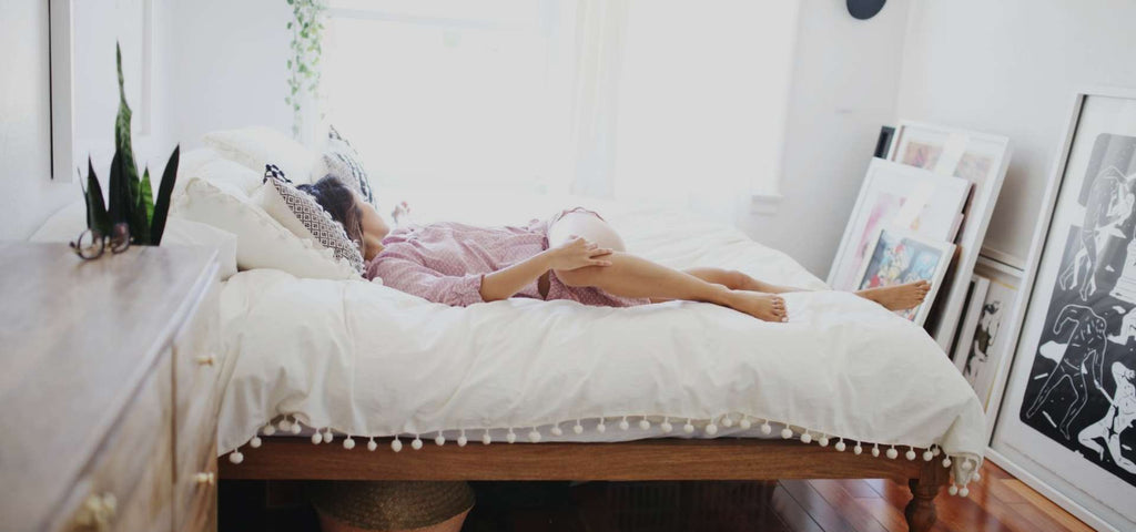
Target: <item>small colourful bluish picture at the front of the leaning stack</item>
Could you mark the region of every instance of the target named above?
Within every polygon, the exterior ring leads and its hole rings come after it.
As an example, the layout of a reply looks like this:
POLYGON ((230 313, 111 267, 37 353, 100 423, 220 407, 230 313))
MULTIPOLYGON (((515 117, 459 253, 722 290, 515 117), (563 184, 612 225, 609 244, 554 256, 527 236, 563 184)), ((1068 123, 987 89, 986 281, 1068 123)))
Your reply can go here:
POLYGON ((862 290, 918 280, 930 282, 932 289, 922 304, 896 312, 916 324, 922 324, 935 301, 936 287, 951 264, 954 244, 930 240, 902 229, 883 228, 876 231, 868 250, 868 260, 857 276, 855 288, 862 290))

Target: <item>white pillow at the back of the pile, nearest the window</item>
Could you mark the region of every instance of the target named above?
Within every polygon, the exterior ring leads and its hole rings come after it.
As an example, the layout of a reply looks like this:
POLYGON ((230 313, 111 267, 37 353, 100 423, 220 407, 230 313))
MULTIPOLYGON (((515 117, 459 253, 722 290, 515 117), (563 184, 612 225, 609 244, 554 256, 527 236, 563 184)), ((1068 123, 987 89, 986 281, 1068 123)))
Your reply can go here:
POLYGON ((311 183, 314 175, 323 169, 319 154, 270 127, 212 132, 204 136, 204 143, 225 159, 241 163, 258 176, 265 171, 265 164, 272 163, 284 170, 289 179, 302 184, 311 183))

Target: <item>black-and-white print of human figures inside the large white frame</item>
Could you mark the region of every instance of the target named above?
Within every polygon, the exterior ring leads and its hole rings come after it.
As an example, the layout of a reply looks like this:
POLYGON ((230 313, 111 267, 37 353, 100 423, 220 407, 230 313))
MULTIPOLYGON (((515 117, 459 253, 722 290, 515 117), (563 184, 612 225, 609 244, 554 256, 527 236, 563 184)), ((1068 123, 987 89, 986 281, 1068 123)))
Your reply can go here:
MULTIPOLYGON (((1136 485, 1136 137, 1094 140, 1020 420, 1136 485)), ((1049 252, 1049 251, 1047 251, 1049 252)), ((1038 286, 1038 289, 1044 289, 1038 286)))

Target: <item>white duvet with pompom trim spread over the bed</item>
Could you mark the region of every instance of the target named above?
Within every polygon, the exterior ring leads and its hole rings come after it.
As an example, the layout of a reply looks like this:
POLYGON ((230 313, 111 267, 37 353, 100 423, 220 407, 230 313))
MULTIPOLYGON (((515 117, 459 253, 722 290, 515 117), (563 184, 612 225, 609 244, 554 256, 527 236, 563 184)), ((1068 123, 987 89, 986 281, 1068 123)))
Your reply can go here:
MULTIPOLYGON (((600 211, 628 251, 661 263, 825 289, 785 254, 673 210, 562 197, 387 196, 410 199, 419 221, 523 225, 583 205, 600 211)), ((438 434, 453 442, 461 430, 481 441, 484 429, 494 442, 510 431, 517 441, 760 437, 768 420, 772 436, 787 424, 792 437, 808 433, 803 440, 834 449, 863 442, 870 453, 878 444, 880 459, 891 446, 904 459, 909 446, 934 445, 964 484, 986 447, 983 412, 935 341, 850 294, 785 299, 788 323, 690 302, 603 309, 518 298, 458 309, 365 280, 241 272, 222 297, 225 347, 236 358, 219 450, 244 446, 281 415, 352 434, 352 442, 399 434, 407 444, 438 434), (665 420, 673 432, 663 433, 665 420)))

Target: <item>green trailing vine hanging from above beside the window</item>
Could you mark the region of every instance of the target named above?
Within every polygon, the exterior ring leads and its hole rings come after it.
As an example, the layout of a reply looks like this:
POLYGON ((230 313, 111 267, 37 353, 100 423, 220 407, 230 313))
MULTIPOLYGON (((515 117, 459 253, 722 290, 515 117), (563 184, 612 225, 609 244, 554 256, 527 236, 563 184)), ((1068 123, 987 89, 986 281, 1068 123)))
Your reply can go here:
POLYGON ((323 53, 324 23, 327 10, 324 0, 287 0, 292 7, 292 20, 287 29, 292 32, 292 52, 287 59, 289 93, 284 101, 292 108, 292 136, 300 137, 303 124, 304 95, 315 101, 319 91, 319 58, 323 53))

